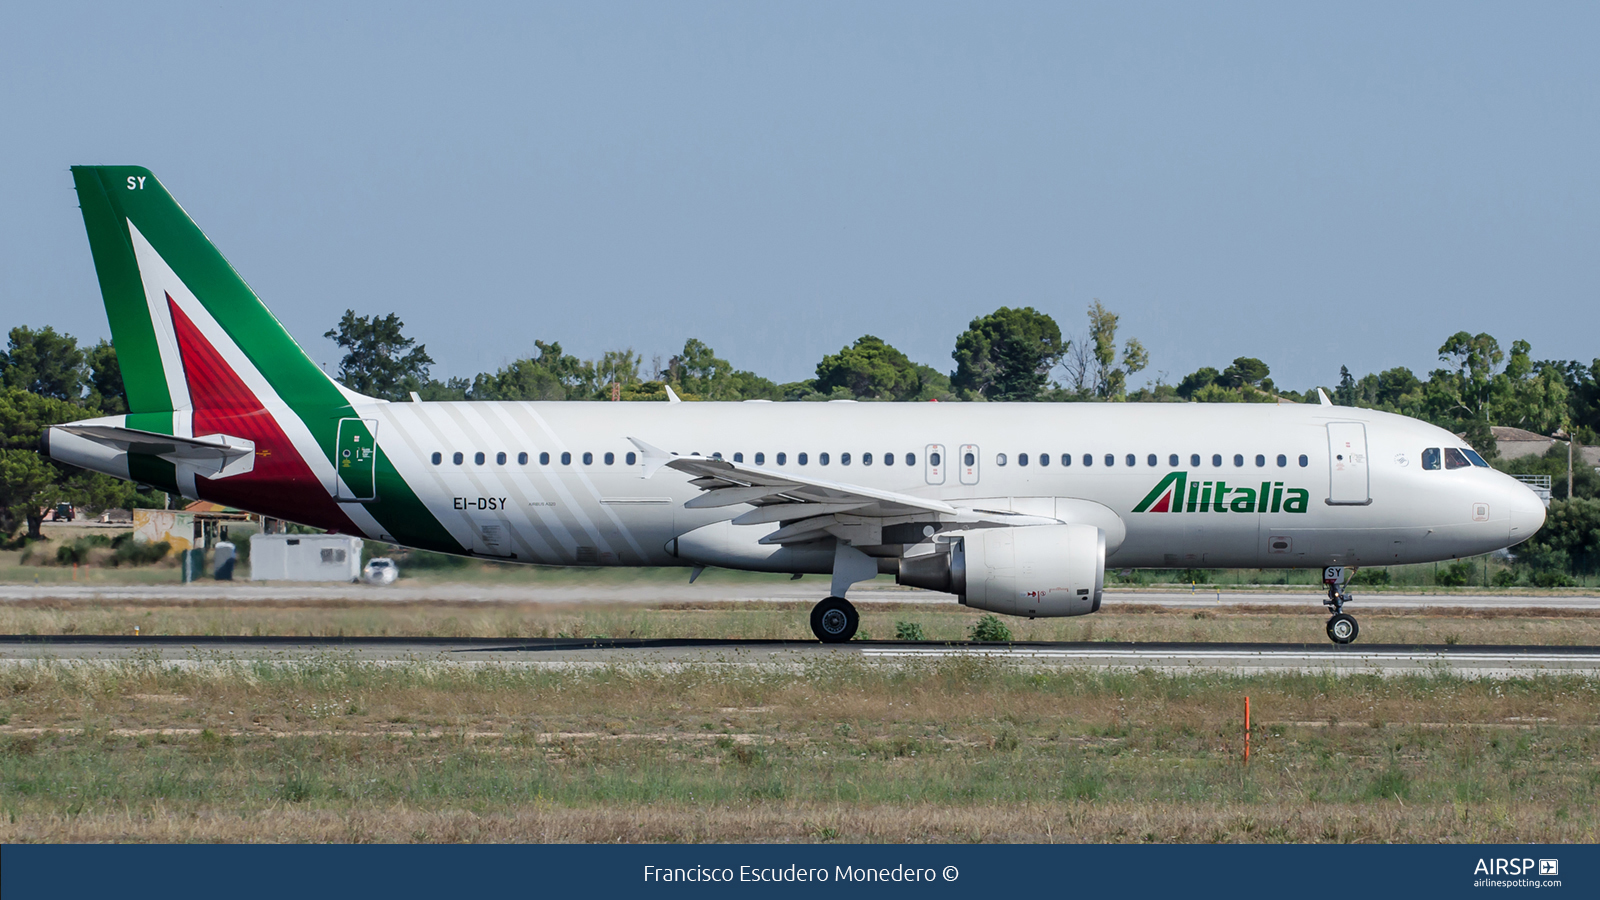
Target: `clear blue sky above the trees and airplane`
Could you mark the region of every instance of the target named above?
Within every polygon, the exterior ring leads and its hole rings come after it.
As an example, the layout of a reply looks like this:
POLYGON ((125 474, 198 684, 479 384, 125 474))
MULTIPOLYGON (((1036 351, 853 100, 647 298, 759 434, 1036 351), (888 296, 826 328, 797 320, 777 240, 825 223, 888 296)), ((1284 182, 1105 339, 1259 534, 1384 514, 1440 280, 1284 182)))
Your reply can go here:
MULTIPOLYGON (((1594 3, 13 8, 0 325, 107 335, 67 167, 152 168, 318 360, 533 352, 770 378, 862 333, 1101 299, 1146 375, 1600 356, 1594 3)), ((1136 378, 1134 383, 1142 381, 1136 378)))

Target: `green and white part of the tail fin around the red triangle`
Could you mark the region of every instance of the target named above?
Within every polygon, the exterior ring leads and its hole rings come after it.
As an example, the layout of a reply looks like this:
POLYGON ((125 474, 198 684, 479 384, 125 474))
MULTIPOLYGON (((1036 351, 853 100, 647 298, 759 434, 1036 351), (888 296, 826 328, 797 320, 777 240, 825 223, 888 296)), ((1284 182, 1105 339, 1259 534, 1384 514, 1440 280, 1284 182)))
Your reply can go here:
POLYGON ((258 394, 274 394, 296 413, 349 404, 149 170, 80 165, 72 167, 72 179, 128 391, 130 424, 178 434, 160 420, 195 407, 190 389, 203 388, 194 384, 195 372, 186 378, 186 328, 205 333, 240 380, 269 388, 258 394))

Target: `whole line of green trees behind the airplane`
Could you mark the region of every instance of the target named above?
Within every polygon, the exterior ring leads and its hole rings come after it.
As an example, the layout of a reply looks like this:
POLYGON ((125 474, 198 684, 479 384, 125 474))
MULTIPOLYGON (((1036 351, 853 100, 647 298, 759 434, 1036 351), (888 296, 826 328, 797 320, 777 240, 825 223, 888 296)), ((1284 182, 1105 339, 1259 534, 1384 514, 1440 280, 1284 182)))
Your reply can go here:
MULTIPOLYGON (((1318 402, 1318 386, 1299 392, 1278 386, 1258 357, 1218 360, 1176 383, 1157 376, 1130 389, 1149 370, 1149 352, 1136 338, 1118 340, 1118 317, 1099 301, 1090 304, 1075 335, 1064 335, 1050 314, 1034 307, 979 315, 955 336, 950 370, 918 364, 888 341, 862 335, 824 356, 813 378, 790 383, 734 368, 698 338, 648 364, 632 348, 581 359, 558 341, 533 341, 530 356, 494 372, 440 381, 432 378, 427 348, 405 335, 395 314, 346 311, 325 336, 344 349, 341 383, 390 400, 413 392, 424 400, 666 400, 670 386, 685 400, 1318 402)), ((1320 388, 1339 405, 1395 412, 1462 434, 1491 460, 1498 458, 1491 426, 1600 444, 1600 359, 1539 360, 1526 341, 1512 341, 1507 351, 1491 335, 1458 331, 1440 344, 1438 362, 1426 375, 1395 367, 1357 376, 1341 368, 1339 381, 1320 388)), ((162 504, 158 493, 141 496, 126 482, 35 452, 38 432, 50 424, 120 412, 126 397, 110 343, 83 349, 51 327, 11 328, 0 354, 0 533, 26 522, 37 536, 42 511, 62 501, 96 509, 162 504)), ((1496 460, 1496 466, 1550 474, 1558 501, 1573 503, 1552 508, 1550 525, 1526 551, 1566 554, 1576 570, 1600 560, 1600 477, 1589 466, 1576 468, 1571 498, 1562 445, 1547 458, 1496 460)))

